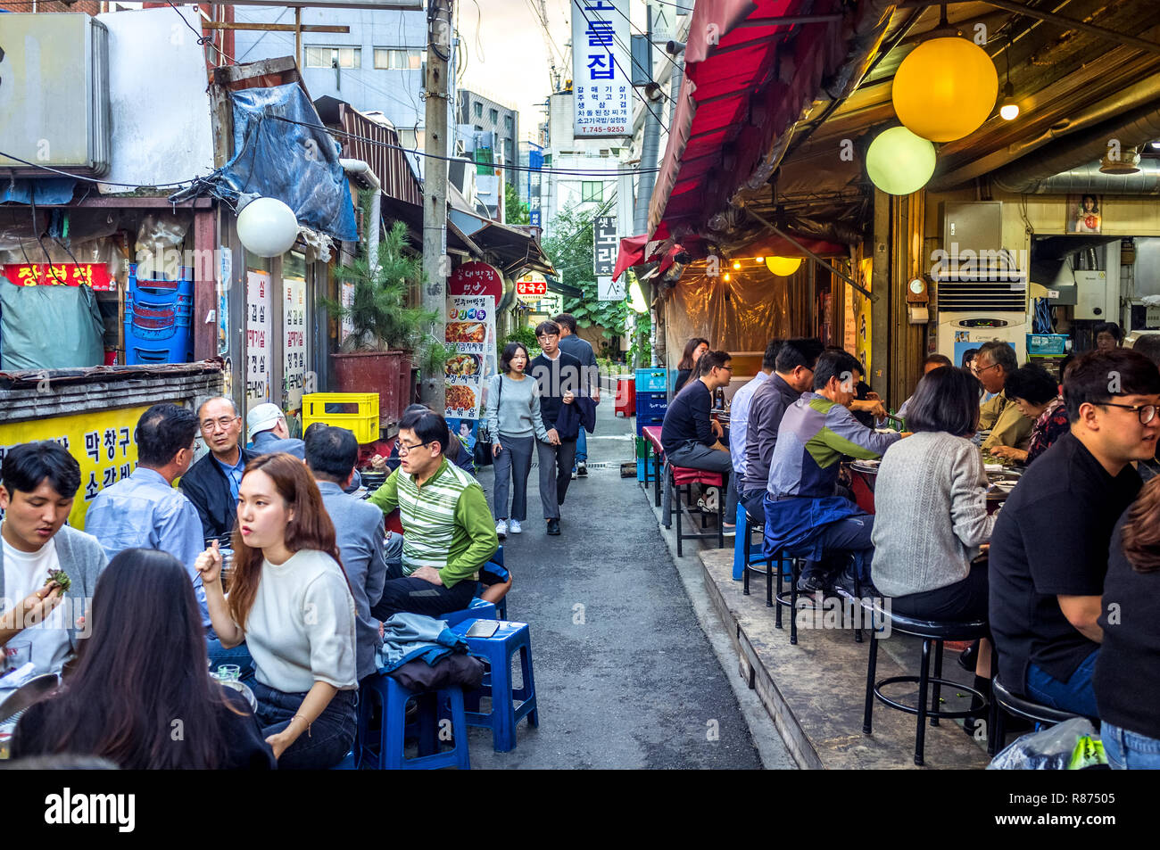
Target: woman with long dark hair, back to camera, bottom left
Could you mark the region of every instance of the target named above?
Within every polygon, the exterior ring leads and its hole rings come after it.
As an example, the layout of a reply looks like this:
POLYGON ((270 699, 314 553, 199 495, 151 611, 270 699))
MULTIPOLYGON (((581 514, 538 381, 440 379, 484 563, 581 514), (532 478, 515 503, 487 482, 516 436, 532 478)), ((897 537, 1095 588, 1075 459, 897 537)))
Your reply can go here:
POLYGON ((93 631, 75 670, 20 719, 14 758, 96 755, 130 770, 275 767, 246 699, 205 671, 201 610, 176 558, 118 553, 88 616, 93 631))

